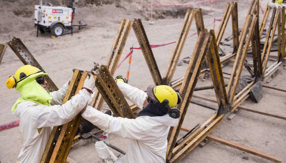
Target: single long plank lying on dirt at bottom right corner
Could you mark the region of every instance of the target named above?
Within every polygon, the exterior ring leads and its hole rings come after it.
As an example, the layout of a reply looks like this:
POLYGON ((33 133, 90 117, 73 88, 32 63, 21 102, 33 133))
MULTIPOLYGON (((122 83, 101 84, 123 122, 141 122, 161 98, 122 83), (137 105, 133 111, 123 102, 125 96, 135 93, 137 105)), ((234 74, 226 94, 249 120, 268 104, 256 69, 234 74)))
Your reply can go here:
POLYGON ((224 140, 224 139, 215 137, 215 136, 213 136, 213 135, 208 135, 207 138, 210 139, 210 140, 216 141, 216 142, 218 142, 218 143, 227 145, 227 146, 229 146, 229 147, 233 147, 233 148, 235 148, 235 149, 239 149, 239 150, 241 150, 241 151, 245 151, 245 152, 250 153, 250 154, 252 154, 252 155, 255 155, 255 156, 258 156, 258 157, 261 157, 261 158, 270 160, 270 161, 275 162, 275 163, 281 163, 281 162, 282 162, 281 159, 276 158, 276 157, 274 157, 274 156, 264 154, 264 153, 262 153, 262 152, 259 152, 259 151, 250 149, 250 148, 248 148, 248 147, 242 146, 242 145, 237 144, 237 143, 233 143, 233 142, 230 142, 230 141, 227 141, 227 140, 224 140))

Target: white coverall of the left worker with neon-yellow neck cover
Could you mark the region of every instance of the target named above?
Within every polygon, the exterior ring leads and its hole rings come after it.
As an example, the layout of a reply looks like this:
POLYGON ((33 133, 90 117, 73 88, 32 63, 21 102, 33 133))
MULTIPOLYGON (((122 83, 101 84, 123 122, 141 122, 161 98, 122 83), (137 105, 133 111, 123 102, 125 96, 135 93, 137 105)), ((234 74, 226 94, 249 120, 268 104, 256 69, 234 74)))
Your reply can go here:
POLYGON ((19 163, 39 163, 52 126, 70 122, 86 106, 91 95, 85 89, 62 105, 68 87, 67 82, 58 91, 50 93, 53 106, 39 105, 32 101, 23 101, 17 105, 13 114, 20 119, 22 149, 18 156, 19 163), (41 128, 39 133, 38 128, 41 128))

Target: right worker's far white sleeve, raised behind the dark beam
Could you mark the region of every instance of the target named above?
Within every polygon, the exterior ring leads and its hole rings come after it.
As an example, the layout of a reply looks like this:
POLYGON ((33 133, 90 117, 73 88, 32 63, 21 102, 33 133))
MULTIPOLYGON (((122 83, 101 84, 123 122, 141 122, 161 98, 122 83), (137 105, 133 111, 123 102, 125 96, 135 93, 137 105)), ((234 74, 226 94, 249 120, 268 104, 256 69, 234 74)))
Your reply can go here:
POLYGON ((143 103, 147 97, 146 92, 136 87, 133 87, 125 82, 117 82, 117 85, 122 91, 125 98, 133 102, 140 109, 143 109, 143 103))

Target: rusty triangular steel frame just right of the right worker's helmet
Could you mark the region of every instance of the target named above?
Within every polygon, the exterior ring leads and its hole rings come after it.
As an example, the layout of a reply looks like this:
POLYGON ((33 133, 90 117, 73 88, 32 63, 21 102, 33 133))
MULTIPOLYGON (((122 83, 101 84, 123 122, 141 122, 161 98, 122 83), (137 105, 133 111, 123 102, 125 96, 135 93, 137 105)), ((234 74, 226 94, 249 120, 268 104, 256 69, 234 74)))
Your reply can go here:
POLYGON ((224 87, 221 64, 213 31, 210 33, 201 32, 199 34, 182 86, 180 87, 180 93, 183 98, 183 102, 179 105, 182 115, 179 118, 178 126, 171 127, 168 136, 166 158, 167 161, 171 163, 179 161, 194 149, 214 129, 214 127, 221 122, 221 118, 228 111, 226 90, 224 87), (186 136, 183 141, 176 146, 179 132, 205 59, 211 68, 212 80, 219 109, 214 116, 196 129, 192 134, 186 136))

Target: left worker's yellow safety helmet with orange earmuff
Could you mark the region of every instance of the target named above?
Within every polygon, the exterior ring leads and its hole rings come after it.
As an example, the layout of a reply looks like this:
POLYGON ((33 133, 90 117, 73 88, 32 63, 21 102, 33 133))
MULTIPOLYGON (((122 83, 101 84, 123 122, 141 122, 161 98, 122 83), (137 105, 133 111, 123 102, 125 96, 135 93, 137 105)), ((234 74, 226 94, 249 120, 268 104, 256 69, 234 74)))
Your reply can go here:
POLYGON ((40 69, 31 66, 31 65, 24 65, 20 67, 16 72, 15 75, 10 76, 6 80, 6 86, 10 89, 17 85, 18 82, 21 82, 22 80, 26 79, 30 75, 39 73, 39 76, 45 76, 46 73, 43 73, 40 69))

